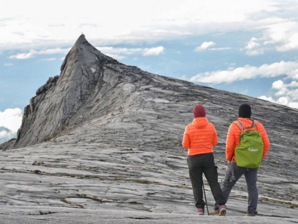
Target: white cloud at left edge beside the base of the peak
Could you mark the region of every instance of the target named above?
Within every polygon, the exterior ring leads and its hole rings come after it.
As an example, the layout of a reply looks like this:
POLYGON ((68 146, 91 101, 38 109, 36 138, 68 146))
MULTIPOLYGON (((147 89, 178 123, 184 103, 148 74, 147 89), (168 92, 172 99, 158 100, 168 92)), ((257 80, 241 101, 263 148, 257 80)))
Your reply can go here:
POLYGON ((16 137, 17 130, 21 126, 22 115, 19 108, 0 112, 0 142, 16 137))

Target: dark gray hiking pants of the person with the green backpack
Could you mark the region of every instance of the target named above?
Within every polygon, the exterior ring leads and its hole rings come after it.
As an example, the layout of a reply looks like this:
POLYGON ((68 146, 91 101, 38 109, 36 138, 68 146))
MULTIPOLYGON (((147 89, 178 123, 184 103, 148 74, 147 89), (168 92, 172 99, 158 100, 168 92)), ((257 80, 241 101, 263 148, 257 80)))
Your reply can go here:
MULTIPOLYGON (((232 172, 231 172, 231 164, 227 165, 224 182, 222 184, 222 191, 224 193, 224 198, 227 201, 228 196, 232 190, 232 187, 236 184, 239 178, 244 174, 246 186, 247 186, 247 193, 248 193, 248 213, 257 213, 257 205, 258 205, 258 187, 257 187, 257 174, 258 169, 251 169, 245 167, 239 167, 236 163, 232 162, 234 167, 234 176, 235 180, 231 180, 232 172)), ((216 203, 217 204, 217 203, 216 203)), ((218 206, 215 205, 215 209, 218 209, 218 206)))

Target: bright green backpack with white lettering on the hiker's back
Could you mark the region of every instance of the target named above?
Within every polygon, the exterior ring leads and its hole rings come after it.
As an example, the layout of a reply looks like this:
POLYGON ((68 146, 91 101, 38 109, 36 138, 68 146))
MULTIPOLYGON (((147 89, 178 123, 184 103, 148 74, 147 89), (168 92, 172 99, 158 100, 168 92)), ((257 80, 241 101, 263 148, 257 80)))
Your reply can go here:
POLYGON ((241 132, 239 145, 235 148, 237 166, 247 168, 260 168, 264 150, 263 139, 256 126, 256 121, 252 121, 250 127, 243 127, 243 123, 238 120, 233 122, 241 132))

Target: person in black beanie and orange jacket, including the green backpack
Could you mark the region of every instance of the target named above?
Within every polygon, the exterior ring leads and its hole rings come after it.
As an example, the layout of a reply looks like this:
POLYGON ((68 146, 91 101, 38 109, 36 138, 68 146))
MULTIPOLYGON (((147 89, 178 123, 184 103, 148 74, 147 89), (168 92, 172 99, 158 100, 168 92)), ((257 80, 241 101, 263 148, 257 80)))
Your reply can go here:
MULTIPOLYGON (((244 174, 248 207, 246 216, 255 216, 258 205, 257 174, 261 162, 265 159, 270 142, 263 124, 251 119, 251 107, 241 104, 238 108, 239 118, 232 122, 227 131, 225 159, 227 168, 221 189, 227 201, 232 187, 244 174)), ((219 207, 210 215, 218 215, 219 207)))

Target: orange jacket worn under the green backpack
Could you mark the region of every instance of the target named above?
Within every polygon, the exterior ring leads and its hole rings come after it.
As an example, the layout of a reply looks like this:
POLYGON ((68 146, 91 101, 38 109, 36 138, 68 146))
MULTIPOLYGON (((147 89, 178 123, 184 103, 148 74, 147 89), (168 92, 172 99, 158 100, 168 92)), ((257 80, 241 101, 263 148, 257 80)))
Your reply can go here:
MULTIPOLYGON (((244 127, 249 127, 252 125, 252 120, 250 120, 249 118, 239 117, 237 120, 239 121, 241 120, 244 127)), ((256 126, 257 126, 257 130, 260 132, 263 139, 263 143, 264 143, 263 159, 265 159, 270 146, 269 138, 267 136, 267 133, 262 123, 256 120, 256 126)), ((233 159, 233 161, 236 162, 235 147, 239 144, 240 132, 241 130, 236 124, 234 123, 230 124, 227 131, 226 145, 225 145, 225 159, 227 161, 231 161, 233 159)))

